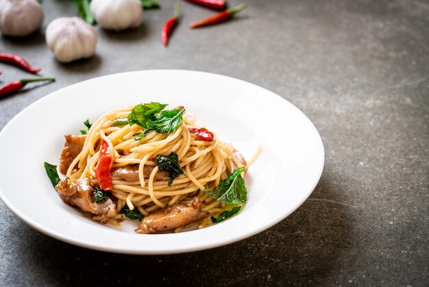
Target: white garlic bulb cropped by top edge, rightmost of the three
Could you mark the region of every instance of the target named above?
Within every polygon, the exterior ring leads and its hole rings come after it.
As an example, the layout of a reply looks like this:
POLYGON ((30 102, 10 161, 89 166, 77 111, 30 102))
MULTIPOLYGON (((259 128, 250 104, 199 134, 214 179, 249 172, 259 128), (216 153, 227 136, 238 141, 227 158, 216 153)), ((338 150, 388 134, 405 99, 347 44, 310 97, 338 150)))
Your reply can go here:
POLYGON ((143 15, 140 0, 92 0, 90 10, 101 27, 117 31, 138 27, 143 15))

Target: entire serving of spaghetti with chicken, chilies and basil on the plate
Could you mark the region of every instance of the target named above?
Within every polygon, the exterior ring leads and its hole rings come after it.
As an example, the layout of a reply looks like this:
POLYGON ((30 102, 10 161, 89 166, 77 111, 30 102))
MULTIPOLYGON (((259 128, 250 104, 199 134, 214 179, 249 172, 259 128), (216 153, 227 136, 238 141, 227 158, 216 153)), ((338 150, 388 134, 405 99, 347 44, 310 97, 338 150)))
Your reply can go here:
POLYGON ((236 214, 247 200, 247 162, 230 143, 197 126, 183 106, 151 102, 105 113, 82 135, 65 135, 60 180, 45 169, 60 198, 136 233, 206 227, 236 214))

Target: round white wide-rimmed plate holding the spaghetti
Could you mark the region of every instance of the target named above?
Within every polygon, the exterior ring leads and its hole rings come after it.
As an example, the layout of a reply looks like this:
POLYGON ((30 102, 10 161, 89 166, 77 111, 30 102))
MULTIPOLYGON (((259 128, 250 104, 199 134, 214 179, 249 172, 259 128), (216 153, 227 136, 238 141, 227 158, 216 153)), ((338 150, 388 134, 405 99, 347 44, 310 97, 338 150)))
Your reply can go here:
POLYGON ((87 80, 43 97, 0 133, 0 198, 29 225, 79 246, 134 254, 182 253, 229 244, 289 216, 314 190, 323 170, 323 143, 315 126, 282 97, 242 80, 197 71, 155 70, 87 80), (43 162, 57 164, 63 135, 79 133, 113 108, 140 102, 185 106, 197 124, 232 142, 250 159, 248 200, 233 218, 206 229, 142 235, 137 222, 101 225, 58 197, 43 162))

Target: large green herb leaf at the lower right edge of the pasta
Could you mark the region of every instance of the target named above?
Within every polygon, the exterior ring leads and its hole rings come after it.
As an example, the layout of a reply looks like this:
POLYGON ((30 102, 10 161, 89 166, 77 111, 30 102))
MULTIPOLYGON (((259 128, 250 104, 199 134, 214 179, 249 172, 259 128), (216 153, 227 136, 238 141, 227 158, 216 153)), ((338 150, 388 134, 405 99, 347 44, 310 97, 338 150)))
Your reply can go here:
POLYGON ((210 190, 210 188, 206 187, 204 193, 221 203, 234 205, 245 203, 247 200, 247 190, 244 179, 240 175, 244 170, 243 166, 237 168, 228 175, 227 179, 221 181, 215 190, 210 190))

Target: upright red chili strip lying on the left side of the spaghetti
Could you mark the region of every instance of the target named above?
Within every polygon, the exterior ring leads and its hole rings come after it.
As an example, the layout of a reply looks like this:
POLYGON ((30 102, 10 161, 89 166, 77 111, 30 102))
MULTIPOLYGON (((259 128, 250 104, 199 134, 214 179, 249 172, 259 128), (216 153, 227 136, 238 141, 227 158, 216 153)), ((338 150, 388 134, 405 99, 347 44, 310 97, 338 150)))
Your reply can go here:
POLYGON ((112 176, 110 168, 112 168, 113 159, 110 156, 110 146, 106 141, 101 141, 98 163, 95 166, 95 177, 101 190, 112 190, 112 176))

